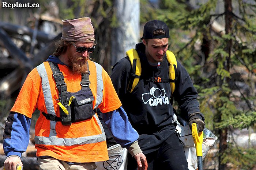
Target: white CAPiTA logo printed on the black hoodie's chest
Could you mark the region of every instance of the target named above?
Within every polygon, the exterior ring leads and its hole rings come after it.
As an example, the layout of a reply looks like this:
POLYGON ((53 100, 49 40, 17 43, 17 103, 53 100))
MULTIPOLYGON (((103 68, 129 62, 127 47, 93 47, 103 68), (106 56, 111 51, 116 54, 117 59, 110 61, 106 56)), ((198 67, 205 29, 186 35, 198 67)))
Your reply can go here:
POLYGON ((166 92, 162 88, 152 87, 150 92, 142 94, 142 101, 144 104, 149 104, 150 106, 157 106, 158 104, 169 104, 169 98, 165 96, 166 92))

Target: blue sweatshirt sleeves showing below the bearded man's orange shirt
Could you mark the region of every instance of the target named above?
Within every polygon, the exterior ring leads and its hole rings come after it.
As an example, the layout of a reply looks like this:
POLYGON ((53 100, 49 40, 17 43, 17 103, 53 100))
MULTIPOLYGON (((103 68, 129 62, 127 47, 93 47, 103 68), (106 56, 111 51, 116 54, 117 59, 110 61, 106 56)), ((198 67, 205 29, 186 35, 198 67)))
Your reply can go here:
MULTIPOLYGON (((127 149, 139 138, 139 134, 132 128, 123 107, 112 112, 103 113, 103 120, 113 135, 114 140, 127 149)), ((8 157, 17 155, 21 158, 27 150, 30 138, 31 118, 11 112, 4 129, 4 153, 8 157)))

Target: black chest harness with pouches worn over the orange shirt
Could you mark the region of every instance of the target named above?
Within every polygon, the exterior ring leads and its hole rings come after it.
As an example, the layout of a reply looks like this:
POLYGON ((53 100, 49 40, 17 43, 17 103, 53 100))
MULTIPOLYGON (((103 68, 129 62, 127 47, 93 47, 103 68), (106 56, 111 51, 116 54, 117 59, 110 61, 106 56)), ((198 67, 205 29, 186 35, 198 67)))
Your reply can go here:
MULTIPOLYGON (((90 119, 95 114, 93 110, 93 93, 90 89, 88 70, 85 74, 82 74, 81 90, 75 93, 67 91, 67 85, 64 82, 64 76, 60 72, 59 67, 56 63, 49 62, 50 67, 53 71, 53 78, 56 82, 56 86, 59 90, 59 102, 60 107, 60 118, 54 115, 42 114, 46 119, 61 121, 63 125, 70 125, 74 122, 90 119)), ((89 67, 88 67, 89 68, 89 67)))

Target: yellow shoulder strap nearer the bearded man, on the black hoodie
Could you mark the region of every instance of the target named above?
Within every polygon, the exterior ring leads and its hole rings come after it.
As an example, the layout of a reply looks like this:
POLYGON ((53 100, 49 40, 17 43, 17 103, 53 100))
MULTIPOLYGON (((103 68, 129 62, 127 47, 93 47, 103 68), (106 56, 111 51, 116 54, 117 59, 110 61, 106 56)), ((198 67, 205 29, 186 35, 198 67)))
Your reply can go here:
POLYGON ((129 92, 132 92, 135 86, 139 83, 139 80, 140 80, 139 76, 141 75, 142 69, 141 69, 139 55, 135 49, 128 50, 126 52, 126 55, 129 57, 131 61, 132 70, 134 70, 134 67, 136 67, 135 72, 133 72, 133 74, 135 74, 135 78, 129 80, 128 88, 127 88, 129 92), (130 86, 130 83, 132 83, 132 86, 130 86))

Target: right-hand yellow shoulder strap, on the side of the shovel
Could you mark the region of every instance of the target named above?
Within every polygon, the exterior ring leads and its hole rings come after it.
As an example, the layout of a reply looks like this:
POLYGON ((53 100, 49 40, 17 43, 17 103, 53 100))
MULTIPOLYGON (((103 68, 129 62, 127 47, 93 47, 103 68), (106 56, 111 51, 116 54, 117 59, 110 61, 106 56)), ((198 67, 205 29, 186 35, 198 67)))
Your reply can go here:
POLYGON ((175 70, 177 68, 177 60, 172 51, 166 51, 167 61, 169 63, 169 79, 171 79, 170 86, 172 95, 175 90, 175 70))

